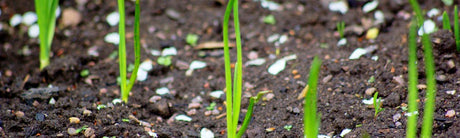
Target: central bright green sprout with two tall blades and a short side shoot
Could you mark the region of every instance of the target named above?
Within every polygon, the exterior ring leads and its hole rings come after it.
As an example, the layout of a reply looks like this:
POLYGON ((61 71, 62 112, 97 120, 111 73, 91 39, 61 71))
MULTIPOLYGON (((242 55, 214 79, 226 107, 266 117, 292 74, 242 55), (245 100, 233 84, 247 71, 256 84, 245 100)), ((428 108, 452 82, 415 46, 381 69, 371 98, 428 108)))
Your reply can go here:
POLYGON ((243 121, 243 126, 240 128, 238 133, 238 119, 241 108, 241 93, 243 86, 243 51, 241 47, 241 34, 240 34, 240 23, 238 17, 238 0, 229 0, 227 8, 225 9, 224 24, 223 24, 223 39, 224 39, 224 59, 225 59, 225 85, 226 85, 226 104, 227 104, 227 136, 229 138, 241 137, 249 124, 252 116, 252 108, 254 103, 267 92, 260 92, 256 98, 251 98, 248 112, 243 121), (235 27, 236 36, 236 63, 234 71, 234 80, 232 82, 232 70, 230 67, 230 50, 229 50, 229 38, 228 38, 228 22, 230 20, 230 13, 233 9, 233 24, 235 27), (233 88, 232 88, 233 87, 233 88))

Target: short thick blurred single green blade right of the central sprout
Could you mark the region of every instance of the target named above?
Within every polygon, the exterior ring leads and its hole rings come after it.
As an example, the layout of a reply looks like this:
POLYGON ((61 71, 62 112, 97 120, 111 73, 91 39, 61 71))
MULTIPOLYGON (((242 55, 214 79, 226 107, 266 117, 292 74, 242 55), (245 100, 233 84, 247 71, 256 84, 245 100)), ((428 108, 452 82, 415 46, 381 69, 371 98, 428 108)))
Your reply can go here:
POLYGON ((305 95, 305 104, 303 106, 304 116, 304 137, 318 137, 318 129, 321 121, 320 115, 317 113, 317 85, 318 76, 321 69, 321 60, 315 56, 310 67, 310 77, 308 78, 308 90, 305 95))

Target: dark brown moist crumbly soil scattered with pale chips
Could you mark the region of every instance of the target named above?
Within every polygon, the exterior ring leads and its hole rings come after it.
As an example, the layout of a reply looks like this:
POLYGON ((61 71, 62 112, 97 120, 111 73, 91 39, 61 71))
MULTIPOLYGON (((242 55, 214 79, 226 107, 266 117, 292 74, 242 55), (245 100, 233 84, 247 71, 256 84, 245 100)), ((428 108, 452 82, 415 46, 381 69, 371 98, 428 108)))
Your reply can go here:
MULTIPOLYGON (((385 14, 385 21, 372 25, 369 21, 374 19, 373 12, 363 13, 361 10, 366 1, 349 0, 350 9, 344 15, 329 11, 322 3, 326 1, 276 2, 281 4, 282 10, 270 11, 259 2, 250 0, 240 2, 243 61, 249 60, 251 51, 267 60, 261 66, 243 68, 244 98, 240 118, 246 113, 249 96, 262 90, 272 91, 255 106, 245 137, 302 137, 303 100, 297 97, 307 83, 310 63, 315 55, 323 60, 318 84, 320 134, 338 137, 342 130, 351 129, 345 137, 403 137, 407 120, 404 116, 407 105, 407 33, 413 16, 409 3, 381 0, 377 9, 385 14), (262 18, 269 14, 275 16, 275 25, 263 23, 262 18), (345 37, 348 40, 340 47, 337 46, 339 36, 336 32, 339 21, 344 21, 347 26, 345 37), (377 27, 380 33, 375 40, 367 40, 365 32, 352 26, 364 30, 377 27), (288 36, 285 43, 279 44, 278 54, 275 44, 267 42, 273 34, 288 36), (374 52, 357 60, 348 59, 356 48, 373 45, 377 47, 374 52), (284 71, 277 75, 267 72, 276 59, 291 54, 296 54, 297 59, 288 61, 284 71), (373 60, 373 56, 378 59, 373 60), (374 109, 362 102, 371 98, 365 93, 369 88, 375 88, 384 100, 384 111, 377 117, 374 117, 374 109), (285 129, 289 125, 292 128, 285 129)), ((117 51, 117 46, 104 42, 104 36, 118 30, 105 21, 106 15, 117 10, 116 1, 96 0, 80 5, 75 1, 60 1, 61 9, 77 9, 83 18, 77 25, 67 27, 59 26, 61 21, 58 19, 51 64, 40 71, 38 39, 28 37, 25 25, 10 27, 8 24, 12 15, 34 11, 33 3, 2 0, 0 135, 68 137, 70 128, 86 125, 93 131, 85 130, 74 136, 149 137, 148 132, 155 132, 159 137, 199 137, 200 130, 207 128, 216 137, 225 137, 225 96, 215 99, 209 95, 225 88, 223 50, 194 49, 186 44, 185 37, 193 33, 200 36, 198 43, 222 41, 226 3, 223 0, 141 3, 141 60, 154 61, 153 70, 147 80, 134 85, 128 104, 112 104, 113 99, 120 97, 116 81, 118 61, 109 58, 117 51), (168 16, 171 11, 177 16, 168 16), (158 56, 153 56, 150 51, 171 46, 178 50, 172 58, 172 65, 156 64, 158 56), (90 49, 97 49, 99 55, 89 55, 90 49), (186 76, 186 64, 193 60, 205 61, 207 66, 186 76), (85 69, 90 71, 89 78, 80 76, 85 69), (151 101, 151 97, 158 96, 156 89, 161 87, 169 88, 170 94, 151 101), (190 109, 192 99, 199 99, 197 97, 201 98, 200 105, 190 109), (55 100, 54 104, 50 104, 51 99, 55 100), (213 102, 217 103, 214 113, 206 114, 206 107, 213 102), (107 107, 98 109, 101 104, 107 107), (180 114, 188 114, 193 120, 174 120, 180 114), (77 117, 80 122, 71 123, 70 117, 77 117)), ((425 11, 431 8, 453 11, 452 6, 445 6, 438 0, 420 4, 425 11)), ((128 62, 132 62, 134 5, 127 2, 126 7, 128 62)), ((441 28, 438 17, 432 19, 441 28)), ((460 115, 446 115, 449 110, 460 112, 459 95, 451 93, 460 91, 460 72, 456 66, 460 65, 460 59, 454 50, 454 37, 449 31, 438 31, 432 34, 432 42, 437 75, 433 135, 460 136, 460 115)), ((419 83, 425 84, 420 44, 418 49, 419 83)), ((231 50, 232 55, 235 53, 235 49, 231 50)), ((421 88, 419 92, 419 105, 423 109, 425 89, 421 88)), ((419 113, 423 115, 423 110, 419 113)), ((419 117, 419 126, 421 121, 419 117)))

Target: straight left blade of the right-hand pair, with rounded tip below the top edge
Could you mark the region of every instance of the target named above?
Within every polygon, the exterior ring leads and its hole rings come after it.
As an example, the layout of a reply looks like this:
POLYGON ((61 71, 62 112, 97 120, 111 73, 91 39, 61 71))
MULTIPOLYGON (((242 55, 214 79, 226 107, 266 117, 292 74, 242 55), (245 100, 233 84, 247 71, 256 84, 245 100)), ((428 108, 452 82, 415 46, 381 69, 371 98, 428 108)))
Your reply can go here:
POLYGON ((407 119, 406 137, 415 138, 417 132, 417 116, 418 116, 418 90, 417 90, 417 25, 413 21, 409 29, 409 83, 408 83, 408 106, 409 117, 407 119))

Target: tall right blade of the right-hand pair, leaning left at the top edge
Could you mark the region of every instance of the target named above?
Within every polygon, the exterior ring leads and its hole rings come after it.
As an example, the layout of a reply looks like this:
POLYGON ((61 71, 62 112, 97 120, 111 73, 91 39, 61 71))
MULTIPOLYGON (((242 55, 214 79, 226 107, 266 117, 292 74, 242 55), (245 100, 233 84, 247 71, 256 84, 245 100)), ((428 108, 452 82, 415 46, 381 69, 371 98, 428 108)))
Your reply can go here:
MULTIPOLYGON (((418 5, 418 2, 416 0, 409 0, 409 2, 415 11, 415 14, 417 17, 417 25, 419 27, 422 27, 424 19, 423 19, 422 11, 420 10, 420 6, 418 5)), ((458 14, 455 14, 455 16, 457 15, 458 14)), ((433 131, 433 114, 434 114, 434 108, 436 104, 435 103, 436 80, 435 80, 433 47, 431 46, 431 38, 429 34, 424 33, 422 35, 422 44, 423 44, 423 52, 424 52, 424 58, 425 58, 425 75, 426 75, 427 89, 426 89, 425 110, 423 112, 421 137, 431 137, 432 131, 433 131)))

